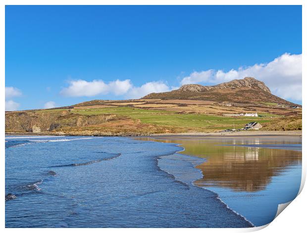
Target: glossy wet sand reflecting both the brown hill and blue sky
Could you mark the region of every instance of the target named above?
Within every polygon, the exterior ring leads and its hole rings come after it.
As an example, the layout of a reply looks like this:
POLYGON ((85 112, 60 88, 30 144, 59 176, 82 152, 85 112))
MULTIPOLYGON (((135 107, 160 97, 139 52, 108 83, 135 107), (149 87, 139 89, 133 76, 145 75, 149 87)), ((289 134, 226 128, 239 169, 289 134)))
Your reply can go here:
POLYGON ((217 193, 256 226, 270 223, 278 204, 293 200, 302 173, 302 131, 242 131, 198 135, 155 135, 139 140, 180 144, 203 177, 194 184, 217 193), (282 133, 287 132, 288 135, 282 133), (254 133, 254 134, 253 134, 254 133), (259 133, 258 135, 255 133, 259 133))

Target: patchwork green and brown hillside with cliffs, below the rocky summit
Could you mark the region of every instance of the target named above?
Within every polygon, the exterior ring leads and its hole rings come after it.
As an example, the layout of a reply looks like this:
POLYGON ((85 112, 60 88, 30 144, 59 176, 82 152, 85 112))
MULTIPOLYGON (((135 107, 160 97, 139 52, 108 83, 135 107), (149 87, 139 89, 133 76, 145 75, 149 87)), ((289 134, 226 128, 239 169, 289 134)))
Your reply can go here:
POLYGON ((300 116, 302 109, 280 108, 267 102, 229 105, 195 100, 95 100, 66 108, 6 112, 5 132, 149 135, 221 131, 242 128, 251 121, 267 130, 289 130, 302 128, 300 116), (255 112, 259 117, 224 116, 255 112))

